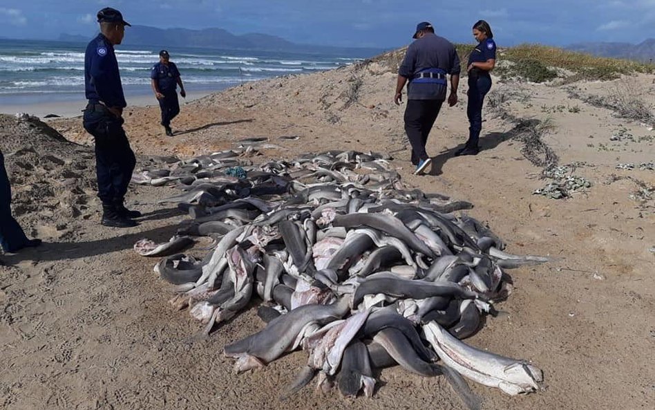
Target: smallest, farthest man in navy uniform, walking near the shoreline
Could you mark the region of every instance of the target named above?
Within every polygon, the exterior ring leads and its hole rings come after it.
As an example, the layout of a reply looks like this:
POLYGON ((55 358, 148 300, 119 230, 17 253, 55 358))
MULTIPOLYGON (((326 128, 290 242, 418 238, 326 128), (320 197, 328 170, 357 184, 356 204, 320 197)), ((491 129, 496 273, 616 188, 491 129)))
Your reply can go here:
POLYGON ((180 102, 178 102, 178 93, 176 92, 178 85, 182 98, 187 97, 187 92, 184 91, 178 66, 170 61, 170 57, 167 50, 159 52, 159 62, 153 66, 150 78, 155 97, 162 109, 162 125, 166 130, 166 135, 172 137, 171 120, 180 113, 180 102))

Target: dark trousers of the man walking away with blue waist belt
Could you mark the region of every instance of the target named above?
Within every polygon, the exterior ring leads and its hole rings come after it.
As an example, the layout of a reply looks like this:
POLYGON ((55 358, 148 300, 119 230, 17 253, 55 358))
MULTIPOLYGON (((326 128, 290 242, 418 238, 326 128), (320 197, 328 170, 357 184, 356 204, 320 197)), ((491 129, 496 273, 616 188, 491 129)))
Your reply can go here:
POLYGON ((412 164, 428 159, 426 144, 444 100, 407 100, 405 132, 412 145, 412 164))

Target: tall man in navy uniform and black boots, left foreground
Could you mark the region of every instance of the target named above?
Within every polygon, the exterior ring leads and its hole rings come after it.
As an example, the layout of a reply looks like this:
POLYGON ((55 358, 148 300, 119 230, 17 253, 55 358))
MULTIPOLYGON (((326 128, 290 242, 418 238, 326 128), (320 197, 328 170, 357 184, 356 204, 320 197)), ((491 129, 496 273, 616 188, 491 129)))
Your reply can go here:
POLYGON ((97 14, 100 34, 86 46, 84 85, 88 105, 84 110, 84 129, 95 139, 98 197, 102 201, 105 226, 131 227, 141 216, 124 206, 127 187, 136 163, 123 129, 123 109, 127 105, 118 72, 114 46, 125 35, 120 11, 103 8, 97 14))

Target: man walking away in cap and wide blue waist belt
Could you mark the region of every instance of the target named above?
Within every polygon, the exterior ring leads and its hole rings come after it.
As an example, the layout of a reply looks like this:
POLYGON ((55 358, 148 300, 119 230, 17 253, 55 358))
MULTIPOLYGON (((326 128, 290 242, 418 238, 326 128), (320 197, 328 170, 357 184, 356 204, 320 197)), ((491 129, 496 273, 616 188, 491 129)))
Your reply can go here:
POLYGON ((405 132, 412 145, 412 164, 416 165, 414 174, 418 175, 432 162, 426 153, 426 142, 446 100, 447 75, 450 75, 448 105, 457 104, 460 68, 455 46, 444 37, 435 35, 432 24, 427 21, 419 23, 413 38, 416 40, 407 48, 398 70, 394 102, 400 104, 403 87, 409 82, 405 132))

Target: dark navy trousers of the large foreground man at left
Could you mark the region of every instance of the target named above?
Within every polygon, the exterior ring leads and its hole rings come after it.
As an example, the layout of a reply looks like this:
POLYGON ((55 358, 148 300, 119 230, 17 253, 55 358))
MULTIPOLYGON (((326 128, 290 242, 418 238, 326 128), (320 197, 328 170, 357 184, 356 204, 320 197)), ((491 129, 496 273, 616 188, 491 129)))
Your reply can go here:
POLYGON ((84 111, 84 129, 95 139, 98 197, 104 205, 123 201, 136 165, 123 122, 100 104, 84 111))

